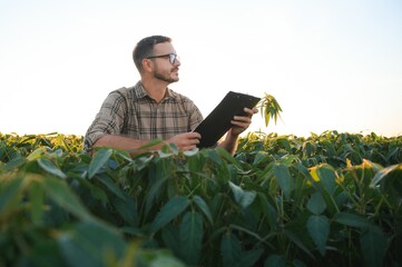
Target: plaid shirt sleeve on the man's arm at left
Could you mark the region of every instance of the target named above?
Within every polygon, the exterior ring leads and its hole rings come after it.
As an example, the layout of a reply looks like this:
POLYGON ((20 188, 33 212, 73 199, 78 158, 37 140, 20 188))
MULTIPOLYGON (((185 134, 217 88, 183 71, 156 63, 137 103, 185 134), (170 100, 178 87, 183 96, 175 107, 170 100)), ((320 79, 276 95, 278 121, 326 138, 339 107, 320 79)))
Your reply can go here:
POLYGON ((94 144, 106 135, 119 135, 125 125, 127 98, 120 91, 112 91, 105 99, 95 120, 84 138, 84 150, 90 151, 94 144))

